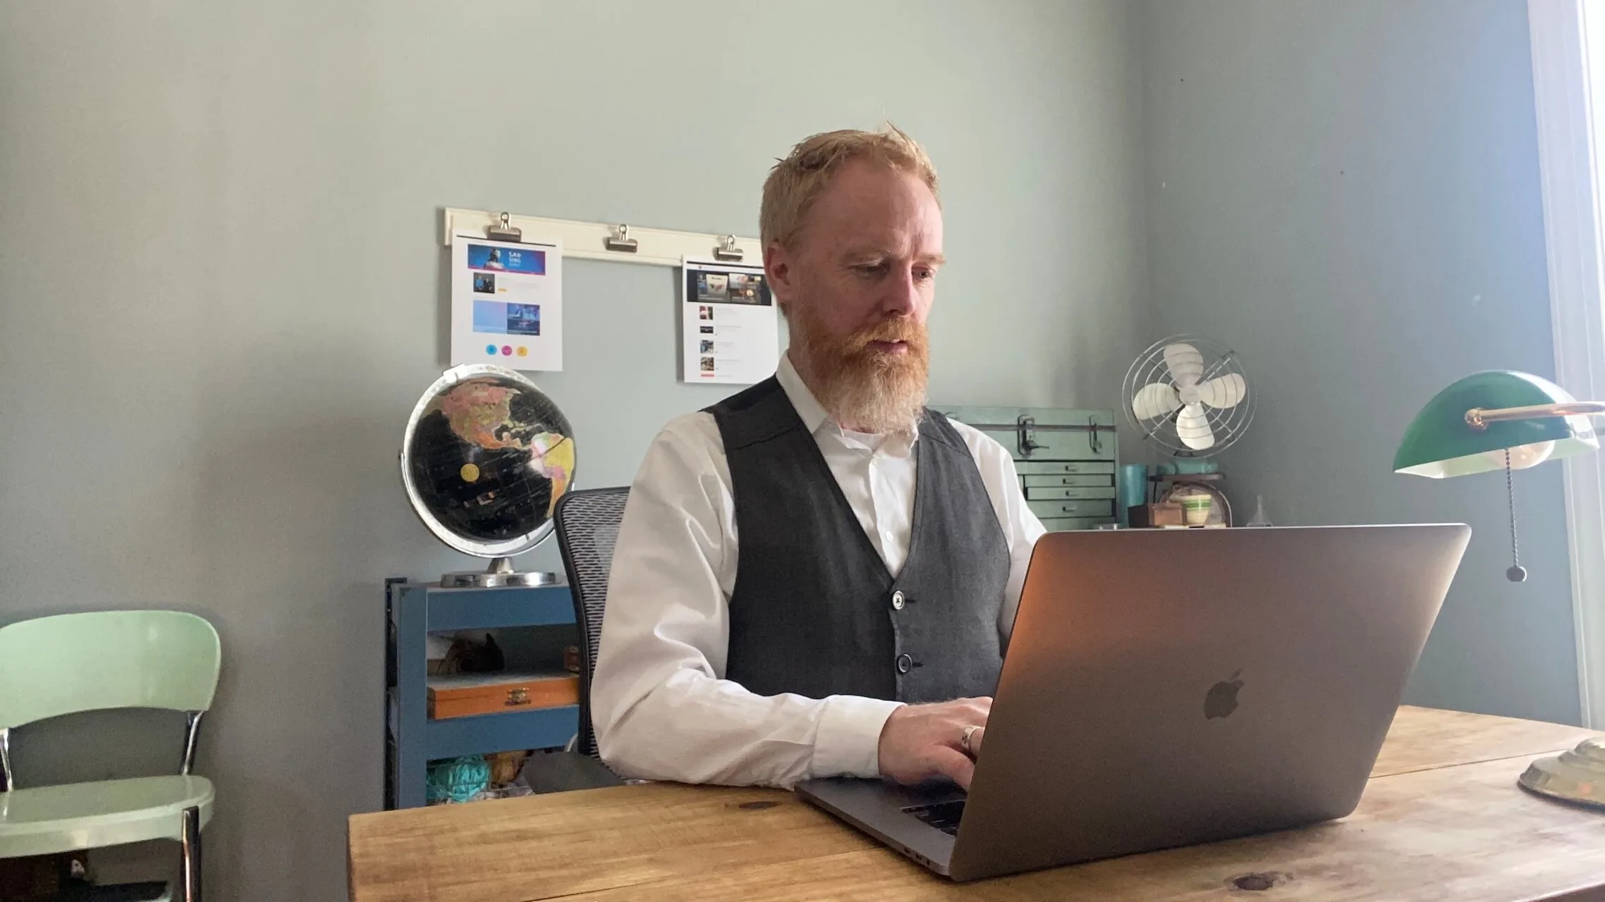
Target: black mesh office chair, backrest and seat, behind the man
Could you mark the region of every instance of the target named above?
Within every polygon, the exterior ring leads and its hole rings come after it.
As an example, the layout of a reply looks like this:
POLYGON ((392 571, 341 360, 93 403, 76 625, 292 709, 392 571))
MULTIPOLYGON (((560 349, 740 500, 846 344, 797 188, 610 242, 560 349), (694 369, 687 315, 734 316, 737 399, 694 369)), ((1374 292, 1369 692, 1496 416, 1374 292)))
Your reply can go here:
POLYGON ((624 783, 597 754, 595 732, 591 727, 591 676, 595 672, 597 645, 602 642, 602 610, 607 605, 613 542, 618 541, 628 498, 629 486, 575 490, 557 501, 552 514, 568 592, 575 599, 575 624, 579 628, 579 730, 562 753, 530 759, 523 774, 536 793, 624 783))

